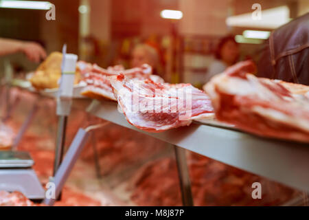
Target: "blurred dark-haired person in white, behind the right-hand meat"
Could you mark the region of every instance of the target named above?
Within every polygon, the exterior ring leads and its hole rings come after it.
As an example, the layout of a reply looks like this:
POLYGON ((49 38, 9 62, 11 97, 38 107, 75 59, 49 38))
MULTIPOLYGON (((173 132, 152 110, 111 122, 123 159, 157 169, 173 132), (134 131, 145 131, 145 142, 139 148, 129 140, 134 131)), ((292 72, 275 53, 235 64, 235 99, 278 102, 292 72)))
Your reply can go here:
POLYGON ((220 74, 227 67, 234 65, 240 56, 239 45, 235 41, 234 36, 225 36, 220 40, 216 50, 216 61, 211 63, 206 74, 206 82, 216 74, 220 74))

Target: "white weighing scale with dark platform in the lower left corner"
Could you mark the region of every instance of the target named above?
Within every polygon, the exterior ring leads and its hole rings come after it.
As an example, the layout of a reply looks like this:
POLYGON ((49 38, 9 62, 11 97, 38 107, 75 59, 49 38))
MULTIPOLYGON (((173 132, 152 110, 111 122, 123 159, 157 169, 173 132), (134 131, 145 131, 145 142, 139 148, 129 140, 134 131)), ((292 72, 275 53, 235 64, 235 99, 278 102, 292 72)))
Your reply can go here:
POLYGON ((32 169, 30 154, 21 151, 0 151, 0 191, 22 192, 28 199, 45 198, 45 190, 32 169))

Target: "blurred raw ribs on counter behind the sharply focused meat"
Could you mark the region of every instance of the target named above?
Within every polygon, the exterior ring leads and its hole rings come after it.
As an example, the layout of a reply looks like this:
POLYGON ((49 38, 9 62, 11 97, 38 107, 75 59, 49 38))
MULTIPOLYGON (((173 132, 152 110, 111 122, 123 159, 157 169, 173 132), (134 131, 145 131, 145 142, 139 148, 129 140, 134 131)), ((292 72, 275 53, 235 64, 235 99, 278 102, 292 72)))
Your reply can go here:
POLYGON ((84 81, 87 83, 87 87, 82 90, 81 94, 89 98, 107 98, 109 100, 116 100, 109 81, 109 76, 124 74, 130 79, 150 78, 157 82, 163 83, 162 78, 152 75, 152 67, 146 64, 141 67, 126 70, 124 70, 124 67, 119 65, 115 67, 108 67, 108 69, 103 69, 98 65, 91 65, 82 61, 78 63, 78 66, 82 71, 84 81))

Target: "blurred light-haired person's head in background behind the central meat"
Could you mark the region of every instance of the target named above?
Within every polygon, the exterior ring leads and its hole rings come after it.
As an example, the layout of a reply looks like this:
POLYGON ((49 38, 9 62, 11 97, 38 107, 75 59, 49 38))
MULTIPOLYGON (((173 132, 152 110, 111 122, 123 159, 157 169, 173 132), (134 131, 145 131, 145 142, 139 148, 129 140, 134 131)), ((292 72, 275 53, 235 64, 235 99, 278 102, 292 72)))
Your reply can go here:
POLYGON ((159 54, 157 50, 150 45, 136 45, 131 54, 130 67, 140 67, 144 63, 152 66, 153 72, 157 74, 157 68, 159 65, 159 54))

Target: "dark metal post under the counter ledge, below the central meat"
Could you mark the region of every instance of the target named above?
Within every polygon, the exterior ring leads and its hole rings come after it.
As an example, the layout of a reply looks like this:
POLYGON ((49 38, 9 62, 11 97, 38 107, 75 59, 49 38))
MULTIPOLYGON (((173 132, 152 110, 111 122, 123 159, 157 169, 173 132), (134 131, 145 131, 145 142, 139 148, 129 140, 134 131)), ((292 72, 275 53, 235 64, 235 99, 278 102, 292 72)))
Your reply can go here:
POLYGON ((185 157, 185 149, 174 145, 174 151, 176 155, 176 163, 179 175, 179 184, 181 186, 181 197, 183 199, 183 206, 194 206, 190 175, 187 168, 187 159, 185 157))

